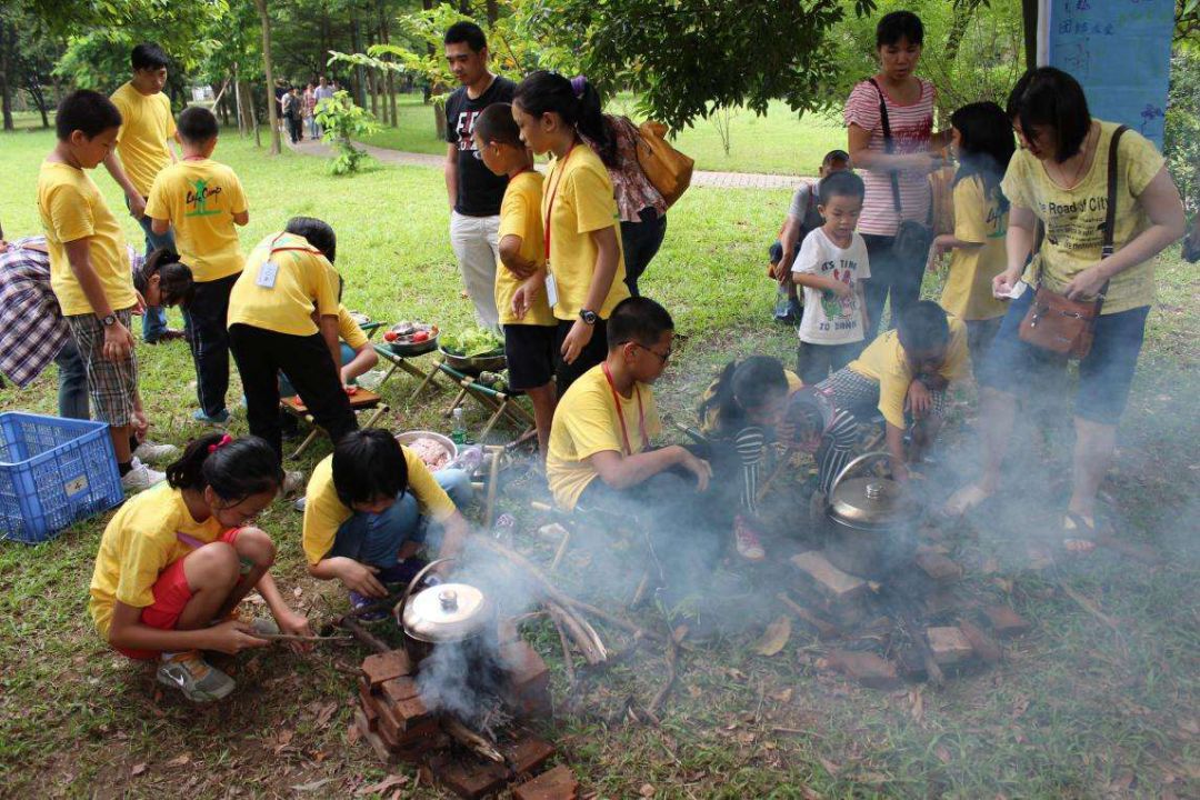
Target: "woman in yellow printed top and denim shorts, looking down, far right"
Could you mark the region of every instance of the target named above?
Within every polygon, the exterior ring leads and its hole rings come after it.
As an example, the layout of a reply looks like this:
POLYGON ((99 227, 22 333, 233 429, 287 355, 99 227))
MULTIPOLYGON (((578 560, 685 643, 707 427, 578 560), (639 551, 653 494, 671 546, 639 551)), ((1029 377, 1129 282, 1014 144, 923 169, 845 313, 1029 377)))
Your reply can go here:
POLYGON ((1012 203, 1008 267, 996 276, 992 288, 997 296, 1015 300, 978 374, 984 387, 983 474, 955 492, 946 512, 964 513, 1000 488, 1018 397, 1030 386, 1043 385, 1034 383, 1036 373, 1064 366, 1019 337, 1034 294, 1021 277, 1037 221, 1044 225, 1045 237, 1030 265, 1028 281, 1040 281, 1046 289, 1073 300, 1104 294, 1092 349, 1079 365, 1074 486, 1063 518, 1064 545, 1070 551, 1086 551, 1093 546, 1096 494, 1112 459, 1117 420, 1129 396, 1146 315, 1154 301, 1153 258, 1183 235, 1183 204, 1154 145, 1126 131, 1116 152, 1115 252, 1102 260, 1109 149, 1117 126, 1092 119, 1082 88, 1054 67, 1033 70, 1016 83, 1008 98, 1008 115, 1021 151, 1001 185, 1012 203))

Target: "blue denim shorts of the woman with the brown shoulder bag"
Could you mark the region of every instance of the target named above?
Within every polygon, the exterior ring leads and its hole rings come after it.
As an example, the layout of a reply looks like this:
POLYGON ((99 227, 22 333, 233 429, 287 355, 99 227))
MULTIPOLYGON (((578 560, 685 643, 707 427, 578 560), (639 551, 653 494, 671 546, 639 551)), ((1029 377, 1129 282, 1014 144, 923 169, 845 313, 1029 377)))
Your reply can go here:
MULTIPOLYGON (((1028 287, 1009 305, 976 375, 980 385, 1022 396, 1030 389, 1054 385, 1055 381, 1043 379, 1066 369, 1067 359, 1027 344, 1019 336, 1033 294, 1033 287, 1028 287)), ((1097 319, 1092 349, 1079 362, 1075 416, 1099 425, 1116 425, 1121 419, 1129 399, 1148 313, 1150 306, 1141 306, 1102 314, 1097 319)))

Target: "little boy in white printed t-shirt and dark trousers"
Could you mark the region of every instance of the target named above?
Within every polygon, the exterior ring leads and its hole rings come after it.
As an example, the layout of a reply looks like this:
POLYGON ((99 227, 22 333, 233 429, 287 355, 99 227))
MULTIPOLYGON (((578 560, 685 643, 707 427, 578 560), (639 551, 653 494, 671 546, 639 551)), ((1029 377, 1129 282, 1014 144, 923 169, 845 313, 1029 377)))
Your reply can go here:
POLYGON ((804 237, 792 281, 804 287, 796 372, 805 385, 824 380, 862 350, 866 319, 863 281, 871 277, 866 245, 854 231, 863 211, 863 179, 848 172, 821 181, 824 224, 804 237))

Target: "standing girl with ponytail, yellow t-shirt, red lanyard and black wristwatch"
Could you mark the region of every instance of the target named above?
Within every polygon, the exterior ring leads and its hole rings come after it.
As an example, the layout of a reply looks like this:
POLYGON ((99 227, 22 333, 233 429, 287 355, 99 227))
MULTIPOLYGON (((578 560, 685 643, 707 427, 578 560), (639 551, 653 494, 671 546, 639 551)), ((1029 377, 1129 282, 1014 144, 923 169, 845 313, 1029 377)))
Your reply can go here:
POLYGON ((620 219, 604 162, 580 137, 607 142, 600 97, 586 78, 568 80, 539 70, 517 85, 512 119, 521 139, 554 161, 541 198, 546 273, 517 290, 517 300, 545 287, 558 320, 554 374, 562 397, 575 379, 608 355, 606 320, 629 296, 620 219))

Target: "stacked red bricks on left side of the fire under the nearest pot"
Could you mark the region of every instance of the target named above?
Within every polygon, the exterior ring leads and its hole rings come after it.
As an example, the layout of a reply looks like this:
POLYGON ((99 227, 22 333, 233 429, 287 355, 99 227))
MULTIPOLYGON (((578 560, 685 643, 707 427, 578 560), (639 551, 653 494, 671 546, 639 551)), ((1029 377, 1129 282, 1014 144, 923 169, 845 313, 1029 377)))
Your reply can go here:
POLYGON ((420 762, 448 739, 437 716, 425 708, 403 650, 367 656, 359 679, 355 721, 359 733, 386 763, 420 762))

